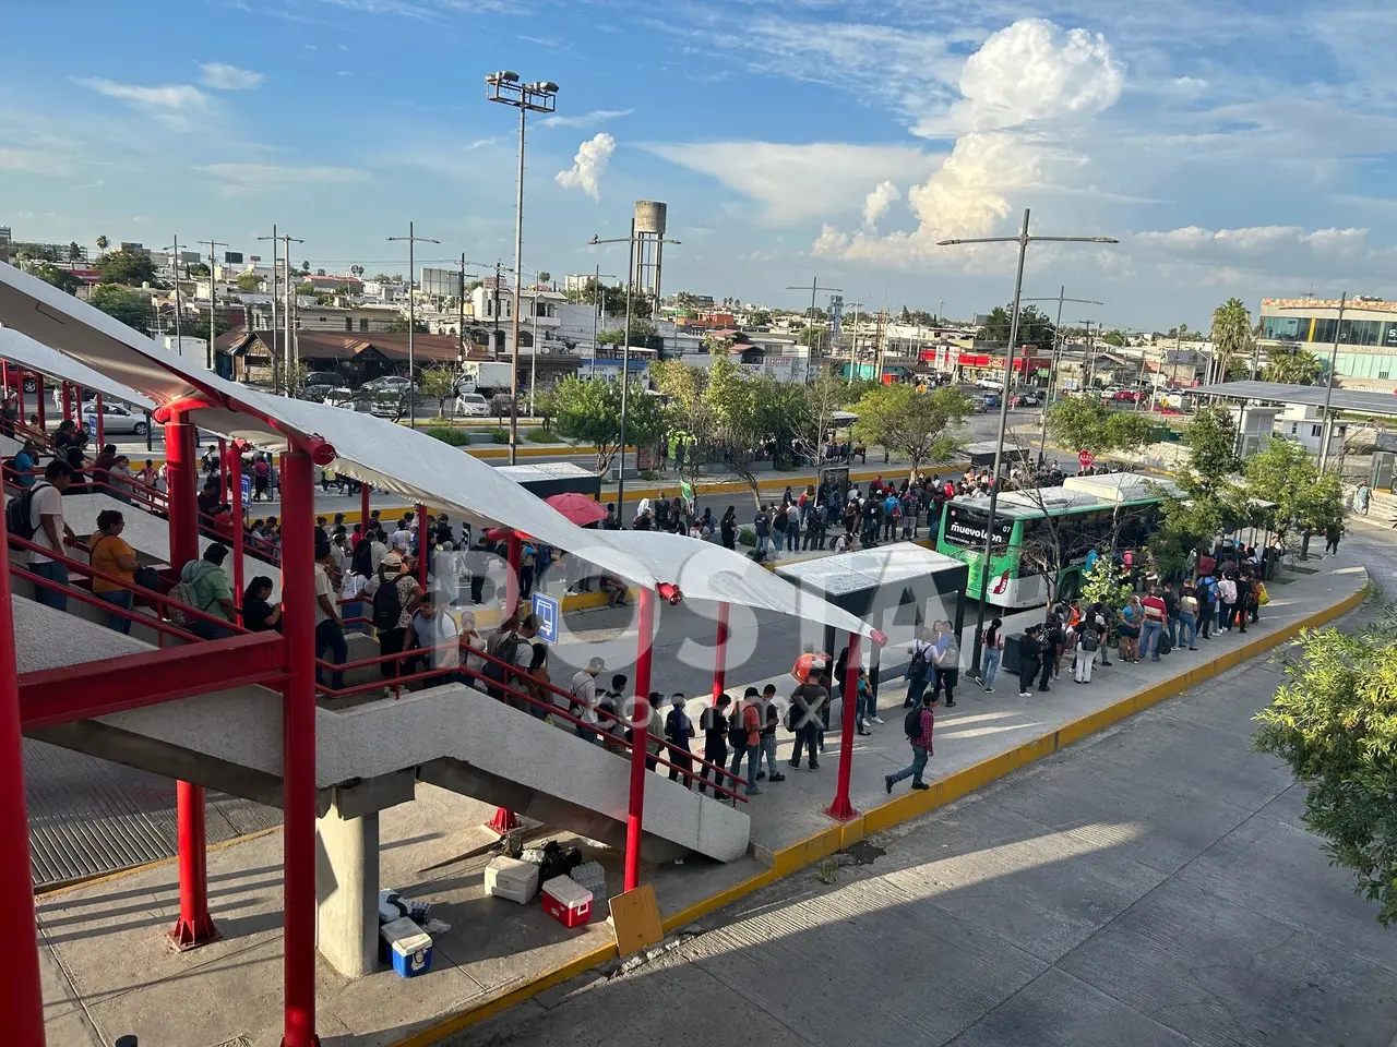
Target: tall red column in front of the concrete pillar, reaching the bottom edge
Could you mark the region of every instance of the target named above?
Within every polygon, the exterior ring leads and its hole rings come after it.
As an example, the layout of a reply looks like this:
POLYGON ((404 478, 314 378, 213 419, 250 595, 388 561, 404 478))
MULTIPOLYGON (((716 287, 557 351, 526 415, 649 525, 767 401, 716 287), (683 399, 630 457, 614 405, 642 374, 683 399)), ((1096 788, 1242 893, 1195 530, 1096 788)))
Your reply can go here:
POLYGON ((310 455, 281 456, 281 588, 289 681, 282 705, 285 1030, 282 1047, 316 1036, 316 494, 310 455))

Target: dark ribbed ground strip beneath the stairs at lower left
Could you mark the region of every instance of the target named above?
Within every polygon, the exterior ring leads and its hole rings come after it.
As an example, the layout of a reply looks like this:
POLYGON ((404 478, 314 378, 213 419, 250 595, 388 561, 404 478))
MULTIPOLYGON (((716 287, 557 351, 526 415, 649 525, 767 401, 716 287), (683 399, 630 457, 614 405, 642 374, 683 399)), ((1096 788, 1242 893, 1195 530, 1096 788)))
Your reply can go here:
MULTIPOLYGON (((35 889, 175 856, 175 782, 24 740, 35 889)), ((281 824, 281 811, 210 793, 208 842, 281 824)))

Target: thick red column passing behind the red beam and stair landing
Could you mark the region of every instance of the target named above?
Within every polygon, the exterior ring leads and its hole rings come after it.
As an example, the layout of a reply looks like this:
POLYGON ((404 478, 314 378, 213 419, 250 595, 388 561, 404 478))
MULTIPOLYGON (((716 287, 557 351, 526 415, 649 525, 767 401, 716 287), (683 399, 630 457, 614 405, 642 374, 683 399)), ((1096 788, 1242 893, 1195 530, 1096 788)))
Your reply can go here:
MULTIPOLYGON (((165 461, 169 496, 170 565, 180 571, 198 558, 198 514, 194 483, 194 426, 175 413, 165 424, 165 461)), ((221 937, 208 913, 208 868, 204 829, 204 787, 180 782, 176 792, 179 822, 179 923, 170 931, 177 949, 194 949, 221 937)))

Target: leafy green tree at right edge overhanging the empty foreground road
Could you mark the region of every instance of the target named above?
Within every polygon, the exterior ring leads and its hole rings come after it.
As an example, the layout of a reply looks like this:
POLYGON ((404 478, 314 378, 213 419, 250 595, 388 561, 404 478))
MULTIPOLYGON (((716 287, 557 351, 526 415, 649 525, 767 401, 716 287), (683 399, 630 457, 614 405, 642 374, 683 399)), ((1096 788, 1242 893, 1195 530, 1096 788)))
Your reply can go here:
POLYGON ((1397 920, 1397 623, 1387 613, 1358 628, 1302 632, 1282 671, 1253 744, 1306 787, 1305 825, 1389 927, 1397 920))

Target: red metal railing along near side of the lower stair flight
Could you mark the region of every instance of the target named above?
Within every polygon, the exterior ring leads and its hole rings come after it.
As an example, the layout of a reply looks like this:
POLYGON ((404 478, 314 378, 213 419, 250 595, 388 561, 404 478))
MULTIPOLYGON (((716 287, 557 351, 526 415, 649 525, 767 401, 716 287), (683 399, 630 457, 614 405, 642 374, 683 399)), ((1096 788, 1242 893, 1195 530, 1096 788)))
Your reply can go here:
MULTIPOLYGON (((344 688, 339 688, 339 690, 330 688, 330 687, 319 687, 317 690, 320 691, 321 695, 324 695, 327 698, 348 698, 349 695, 362 694, 365 691, 376 691, 380 687, 391 687, 395 694, 400 694, 401 692, 401 685, 405 684, 405 683, 414 683, 414 681, 419 681, 419 680, 439 680, 443 676, 450 676, 450 674, 469 676, 469 677, 474 678, 474 681, 475 681, 474 685, 476 685, 476 690, 502 691, 507 698, 511 698, 515 702, 524 702, 527 706, 532 706, 535 709, 545 709, 549 716, 557 716, 557 718, 566 720, 567 723, 573 725, 574 727, 581 727, 584 732, 591 732, 592 734, 597 734, 598 737, 602 738, 602 741, 604 741, 605 745, 616 745, 616 747, 622 748, 623 751, 630 751, 631 750, 631 747, 633 747, 634 743, 630 738, 627 738, 623 734, 622 736, 616 736, 616 734, 610 733, 610 729, 616 727, 616 726, 619 726, 619 727, 622 727, 622 729, 624 729, 627 732, 633 730, 631 725, 627 723, 620 716, 613 715, 608 709, 595 709, 595 712, 598 715, 598 723, 587 723, 585 720, 574 716, 573 713, 570 713, 567 711, 569 706, 571 706, 577 699, 573 697, 573 694, 570 691, 564 691, 557 684, 553 684, 553 683, 549 683, 549 681, 543 681, 543 680, 532 680, 532 678, 529 678, 531 684, 534 684, 536 687, 542 687, 545 691, 549 691, 549 692, 552 692, 552 694, 555 694, 555 695, 566 699, 567 701, 567 706, 559 708, 553 702, 543 701, 541 698, 535 698, 534 695, 529 695, 529 694, 525 694, 524 691, 520 691, 517 687, 513 687, 513 685, 510 685, 507 683, 502 683, 500 680, 492 680, 492 678, 489 678, 489 677, 486 677, 486 676, 483 676, 483 674, 481 674, 481 673, 478 673, 478 671, 475 671, 472 669, 468 669, 467 664, 465 664, 465 658, 469 655, 469 656, 474 656, 474 658, 479 658, 482 662, 486 662, 488 664, 499 666, 500 669, 503 669, 509 676, 514 677, 515 680, 518 680, 520 677, 524 676, 524 673, 518 669, 518 666, 511 666, 507 662, 503 662, 502 659, 496 658, 495 655, 488 655, 483 651, 467 646, 464 644, 464 641, 457 641, 455 645, 453 645, 453 644, 443 644, 443 645, 434 646, 434 648, 414 648, 412 651, 404 651, 404 652, 397 653, 397 655, 379 655, 376 658, 363 658, 363 659, 355 660, 355 662, 345 662, 342 664, 335 664, 332 662, 326 662, 324 659, 316 659, 316 667, 319 670, 321 670, 321 671, 344 673, 344 671, 348 671, 351 669, 366 669, 369 666, 381 666, 381 664, 388 663, 388 662, 398 663, 398 662, 404 662, 404 660, 411 659, 411 658, 429 656, 429 660, 430 660, 430 655, 434 655, 437 652, 451 651, 453 646, 455 646, 455 649, 460 652, 461 664, 458 664, 458 666, 426 669, 426 670, 423 670, 420 673, 411 673, 408 676, 394 676, 394 677, 388 677, 388 678, 384 678, 384 680, 372 680, 372 681, 365 683, 365 684, 356 684, 353 687, 344 687, 344 688)), ((661 745, 661 752, 668 751, 671 755, 678 755, 678 754, 682 752, 685 755, 685 758, 687 758, 690 761, 692 766, 686 768, 686 766, 680 766, 679 764, 676 764, 676 762, 673 762, 671 759, 666 759, 665 757, 662 757, 659 754, 648 754, 647 755, 647 759, 654 759, 657 765, 664 765, 665 768, 669 768, 672 771, 678 771, 683 776, 686 787, 692 789, 693 785, 697 782, 698 785, 703 785, 705 787, 711 786, 715 796, 729 797, 732 800, 733 807, 738 805, 739 800, 742 803, 747 803, 747 797, 742 796, 742 794, 739 794, 736 792, 738 786, 747 786, 747 785, 750 785, 750 782, 747 782, 747 779, 745 779, 745 778, 742 778, 739 775, 732 773, 731 771, 728 771, 724 766, 718 766, 717 764, 710 764, 708 761, 703 759, 703 757, 696 757, 696 755, 693 755, 693 752, 689 752, 686 750, 680 750, 673 743, 668 741, 666 738, 659 737, 658 734, 652 734, 647 729, 645 730, 645 743, 643 743, 643 744, 647 744, 648 741, 658 741, 659 745, 661 745), (717 776, 714 778, 714 780, 707 780, 704 778, 700 778, 700 772, 703 772, 703 771, 711 771, 717 776), (726 782, 728 785, 726 786, 719 785, 721 782, 726 782)))

